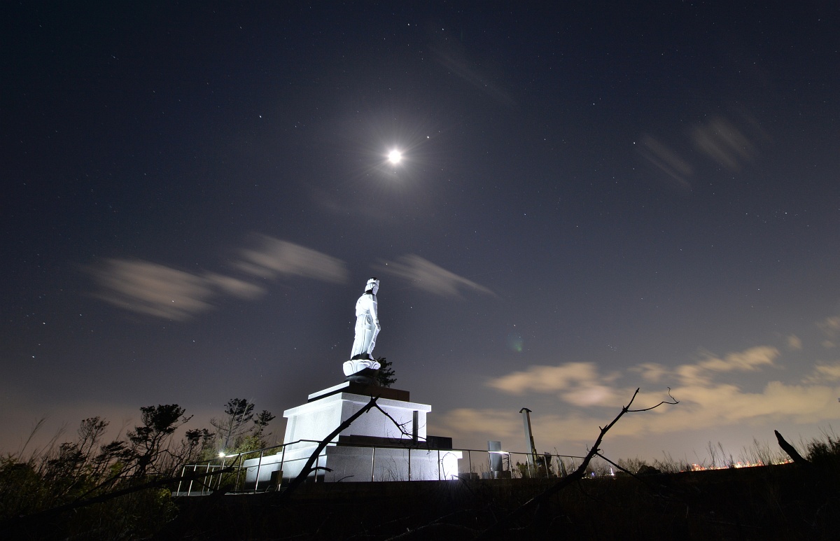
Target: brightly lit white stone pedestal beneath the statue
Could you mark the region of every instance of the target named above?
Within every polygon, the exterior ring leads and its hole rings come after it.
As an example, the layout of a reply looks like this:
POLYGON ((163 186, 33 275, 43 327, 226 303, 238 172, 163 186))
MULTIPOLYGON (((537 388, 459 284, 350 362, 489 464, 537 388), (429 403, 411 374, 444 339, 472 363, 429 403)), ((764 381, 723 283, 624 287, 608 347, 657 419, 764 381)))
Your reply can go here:
MULTIPOLYGON (((318 455, 318 481, 431 481, 458 475, 459 451, 429 449, 426 442, 428 404, 408 402, 408 392, 345 382, 309 395, 309 402, 283 412, 286 442, 278 454, 245 460, 246 490, 276 486, 294 479, 318 443, 355 412, 376 403, 394 421, 372 409, 345 428, 318 455), (404 400, 396 399, 404 398, 404 400), (275 473, 278 472, 278 473, 275 473), (259 480, 259 482, 257 482, 259 480)), ((451 445, 449 445, 451 447, 451 445)))

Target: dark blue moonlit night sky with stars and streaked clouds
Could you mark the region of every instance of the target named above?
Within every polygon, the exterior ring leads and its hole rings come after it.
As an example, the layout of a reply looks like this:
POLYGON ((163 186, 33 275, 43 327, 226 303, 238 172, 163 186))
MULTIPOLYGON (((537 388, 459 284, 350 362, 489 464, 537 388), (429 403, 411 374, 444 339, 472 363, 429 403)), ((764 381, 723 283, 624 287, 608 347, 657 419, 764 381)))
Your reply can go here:
POLYGON ((370 276, 459 448, 583 454, 637 387, 680 404, 613 459, 840 429, 837 3, 562 4, 3 3, 0 450, 281 439, 370 276))

